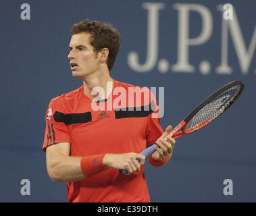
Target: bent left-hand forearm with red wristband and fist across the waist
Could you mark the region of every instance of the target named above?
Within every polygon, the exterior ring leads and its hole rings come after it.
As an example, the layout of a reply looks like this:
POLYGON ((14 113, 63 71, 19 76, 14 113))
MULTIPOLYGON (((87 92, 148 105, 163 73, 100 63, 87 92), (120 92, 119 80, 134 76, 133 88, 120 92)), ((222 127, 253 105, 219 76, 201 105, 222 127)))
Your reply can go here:
POLYGON ((53 182, 76 182, 90 177, 95 173, 112 167, 126 169, 128 174, 140 171, 140 163, 145 163, 145 156, 136 153, 101 154, 88 157, 72 157, 61 153, 47 161, 49 176, 53 182))

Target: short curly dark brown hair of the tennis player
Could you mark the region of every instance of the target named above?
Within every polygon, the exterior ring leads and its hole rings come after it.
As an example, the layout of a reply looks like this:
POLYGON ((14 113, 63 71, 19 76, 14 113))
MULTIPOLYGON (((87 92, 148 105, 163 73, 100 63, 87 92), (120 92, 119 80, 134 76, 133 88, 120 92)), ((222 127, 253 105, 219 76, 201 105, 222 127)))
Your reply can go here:
POLYGON ((113 63, 116 60, 120 47, 120 35, 118 30, 113 28, 111 24, 86 19, 72 26, 72 35, 80 32, 88 32, 91 34, 91 45, 96 52, 101 51, 103 48, 109 49, 107 68, 110 71, 113 68, 113 63))

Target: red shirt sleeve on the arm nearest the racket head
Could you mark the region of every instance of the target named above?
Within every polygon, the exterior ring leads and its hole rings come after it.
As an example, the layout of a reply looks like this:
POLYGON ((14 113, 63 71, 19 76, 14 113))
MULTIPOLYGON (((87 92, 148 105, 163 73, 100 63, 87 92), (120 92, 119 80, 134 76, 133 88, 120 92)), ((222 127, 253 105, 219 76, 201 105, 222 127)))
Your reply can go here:
POLYGON ((146 129, 146 139, 147 146, 154 144, 155 141, 163 134, 163 129, 160 125, 159 117, 159 106, 157 100, 155 99, 153 93, 151 92, 151 114, 148 116, 147 129, 146 129))

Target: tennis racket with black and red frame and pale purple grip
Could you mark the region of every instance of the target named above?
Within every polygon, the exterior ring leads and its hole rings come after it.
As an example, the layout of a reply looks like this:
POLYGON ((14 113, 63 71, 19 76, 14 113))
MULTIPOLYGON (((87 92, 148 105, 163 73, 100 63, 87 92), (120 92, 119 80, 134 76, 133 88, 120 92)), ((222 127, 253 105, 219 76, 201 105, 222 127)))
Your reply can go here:
MULTIPOLYGON (((167 136, 179 138, 180 136, 190 134, 203 128, 213 121, 213 119, 224 113, 224 111, 238 99, 244 86, 245 85, 241 81, 233 81, 216 90, 213 94, 207 97, 205 101, 200 103, 167 136)), ((167 138, 165 137, 164 140, 167 140, 167 138)), ((155 145, 156 144, 149 146, 149 148, 146 148, 140 155, 149 157, 156 151, 155 145)), ((139 159, 136 160, 140 162, 139 159)), ((127 173, 126 169, 121 169, 120 172, 123 175, 127 173)))

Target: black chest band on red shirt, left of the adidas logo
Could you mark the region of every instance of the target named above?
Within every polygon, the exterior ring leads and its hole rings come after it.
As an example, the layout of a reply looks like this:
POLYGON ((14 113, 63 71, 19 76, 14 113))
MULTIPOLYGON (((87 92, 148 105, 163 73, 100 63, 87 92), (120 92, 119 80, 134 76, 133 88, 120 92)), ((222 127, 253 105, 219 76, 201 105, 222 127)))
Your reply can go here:
POLYGON ((64 114, 64 113, 55 111, 53 118, 56 122, 63 122, 66 125, 70 125, 70 124, 87 123, 89 121, 92 121, 92 114, 91 112, 64 114))

